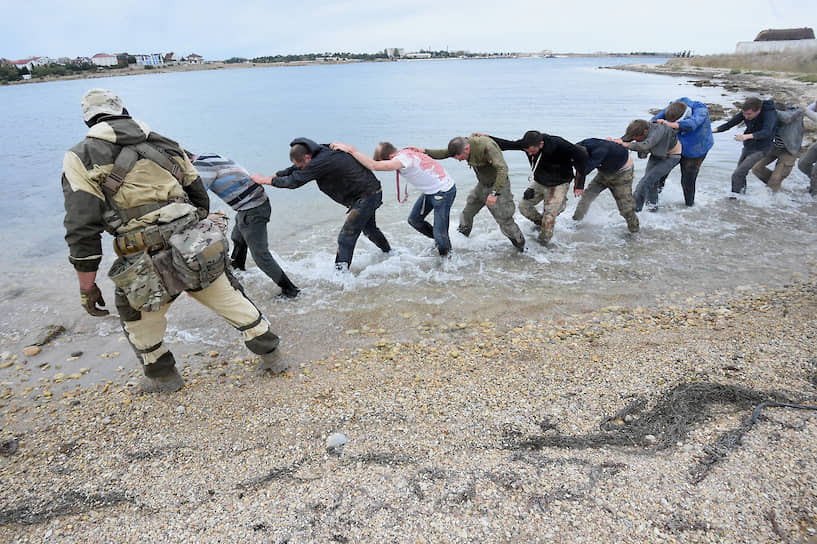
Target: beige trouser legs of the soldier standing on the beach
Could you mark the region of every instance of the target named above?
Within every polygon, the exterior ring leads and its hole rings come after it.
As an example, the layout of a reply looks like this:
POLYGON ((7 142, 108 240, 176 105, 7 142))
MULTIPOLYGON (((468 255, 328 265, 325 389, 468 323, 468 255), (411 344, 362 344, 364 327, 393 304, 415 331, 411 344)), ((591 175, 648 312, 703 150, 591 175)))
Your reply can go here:
MULTIPOLYGON (((251 352, 264 355, 278 346, 278 337, 270 331, 269 323, 228 272, 206 288, 187 293, 238 329, 251 352)), ((124 293, 117 289, 115 302, 125 337, 141 361, 145 375, 156 377, 169 372, 176 361, 163 340, 167 329, 165 314, 173 300, 155 312, 140 312, 131 308, 124 293)))

